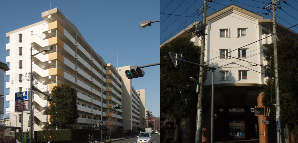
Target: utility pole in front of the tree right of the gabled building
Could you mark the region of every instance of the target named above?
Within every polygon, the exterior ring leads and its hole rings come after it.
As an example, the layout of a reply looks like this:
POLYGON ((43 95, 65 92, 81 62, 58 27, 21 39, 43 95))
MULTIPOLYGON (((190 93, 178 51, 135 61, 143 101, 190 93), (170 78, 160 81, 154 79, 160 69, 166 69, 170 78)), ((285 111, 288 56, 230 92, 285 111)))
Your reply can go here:
POLYGON ((272 5, 272 21, 273 21, 273 47, 274 47, 274 77, 275 77, 275 99, 276 99, 276 132, 277 132, 277 143, 282 143, 281 137, 281 121, 280 121, 280 99, 279 99, 279 84, 278 84, 278 66, 277 66, 277 44, 276 44, 276 19, 275 19, 275 10, 277 8, 277 2, 280 0, 272 0, 272 4, 265 7, 268 10, 268 7, 272 5))

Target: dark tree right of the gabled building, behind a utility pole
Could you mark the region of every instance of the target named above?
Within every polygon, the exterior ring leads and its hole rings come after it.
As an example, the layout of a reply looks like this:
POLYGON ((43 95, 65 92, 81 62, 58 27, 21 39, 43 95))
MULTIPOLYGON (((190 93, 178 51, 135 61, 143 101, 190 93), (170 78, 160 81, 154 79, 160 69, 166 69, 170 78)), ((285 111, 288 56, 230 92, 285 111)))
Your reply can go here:
MULTIPOLYGON (((271 77, 274 77, 274 54, 273 46, 264 57, 270 63, 271 77), (269 52, 270 50, 270 52, 269 52), (271 53, 271 54, 270 54, 271 53)), ((278 82, 280 90, 280 118, 283 127, 290 129, 291 140, 295 142, 294 125, 298 124, 298 44, 289 35, 278 35, 277 40, 278 56, 278 82)), ((270 113, 275 113, 275 85, 274 78, 266 81, 265 98, 263 104, 270 108, 270 113), (271 98, 272 97, 272 98, 271 98)), ((275 120, 275 114, 269 117, 275 120)), ((276 124, 276 122, 274 122, 276 124)))

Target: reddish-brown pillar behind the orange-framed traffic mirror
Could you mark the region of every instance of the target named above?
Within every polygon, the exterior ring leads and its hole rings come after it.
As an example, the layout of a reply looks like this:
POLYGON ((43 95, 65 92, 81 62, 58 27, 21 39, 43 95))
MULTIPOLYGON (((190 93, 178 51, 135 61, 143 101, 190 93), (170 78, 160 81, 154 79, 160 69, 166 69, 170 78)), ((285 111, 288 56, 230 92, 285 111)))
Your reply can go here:
MULTIPOLYGON (((262 100, 265 97, 264 92, 260 93, 257 97, 258 106, 262 105, 262 100)), ((264 124, 262 121, 265 120, 265 116, 258 116, 258 123, 259 123, 259 143, 264 143, 264 124)), ((266 125, 266 142, 268 143, 268 125, 266 125)))

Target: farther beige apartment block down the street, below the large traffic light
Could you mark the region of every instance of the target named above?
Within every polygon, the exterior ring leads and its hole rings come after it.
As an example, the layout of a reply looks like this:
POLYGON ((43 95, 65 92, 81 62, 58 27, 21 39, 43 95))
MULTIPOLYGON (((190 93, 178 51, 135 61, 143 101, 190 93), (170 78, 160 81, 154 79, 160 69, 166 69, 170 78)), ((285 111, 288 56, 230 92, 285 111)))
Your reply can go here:
POLYGON ((145 89, 135 90, 132 86, 132 79, 125 76, 125 70, 130 70, 131 66, 118 67, 117 71, 122 77, 122 97, 123 110, 131 111, 123 114, 123 130, 138 130, 145 117, 145 89))

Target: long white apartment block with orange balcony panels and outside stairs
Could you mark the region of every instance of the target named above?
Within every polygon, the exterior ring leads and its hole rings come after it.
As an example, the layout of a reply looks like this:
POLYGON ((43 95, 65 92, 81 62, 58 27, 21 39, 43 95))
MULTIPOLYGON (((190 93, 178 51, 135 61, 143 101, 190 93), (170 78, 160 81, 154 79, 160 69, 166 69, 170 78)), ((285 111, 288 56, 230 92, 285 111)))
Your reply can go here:
MULTIPOLYGON (((10 89, 6 95, 10 103, 6 114, 10 115, 11 126, 21 126, 20 122, 13 121, 21 114, 14 112, 14 100, 16 92, 30 88, 30 48, 35 54, 42 47, 52 45, 52 51, 32 58, 34 86, 48 95, 52 94, 53 86, 61 84, 70 84, 77 90, 79 118, 73 128, 91 128, 93 123, 100 122, 102 115, 103 125, 107 125, 106 117, 113 116, 117 118, 113 125, 122 128, 122 109, 101 111, 102 106, 122 105, 122 79, 115 67, 105 63, 57 8, 43 12, 42 18, 44 21, 6 33, 10 39, 6 44, 10 52, 6 57, 10 64, 10 71, 6 72, 10 78, 6 83, 10 89)), ((43 94, 34 92, 34 130, 56 129, 49 122, 49 102, 45 99, 43 94)), ((24 130, 29 129, 28 119, 29 111, 26 111, 24 130)))

